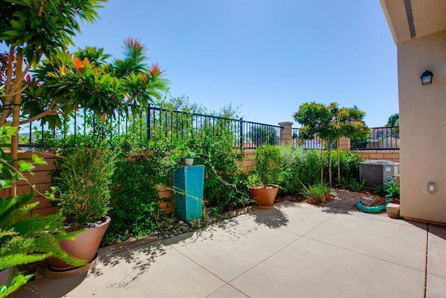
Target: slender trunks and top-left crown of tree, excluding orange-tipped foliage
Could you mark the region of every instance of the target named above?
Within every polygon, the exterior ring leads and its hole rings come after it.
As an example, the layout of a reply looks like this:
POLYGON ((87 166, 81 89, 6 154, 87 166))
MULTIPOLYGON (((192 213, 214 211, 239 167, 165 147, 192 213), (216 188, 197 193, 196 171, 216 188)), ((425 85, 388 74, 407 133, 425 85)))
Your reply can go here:
MULTIPOLYGON (((31 67, 44 56, 52 59, 67 50, 79 21, 93 22, 104 0, 1 0, 0 44, 7 50, 1 57, 0 126, 13 117, 20 125, 22 93, 29 87, 24 80, 31 67)), ((23 113, 22 113, 23 116, 23 113)), ((18 135, 11 141, 11 155, 17 159, 18 135)))

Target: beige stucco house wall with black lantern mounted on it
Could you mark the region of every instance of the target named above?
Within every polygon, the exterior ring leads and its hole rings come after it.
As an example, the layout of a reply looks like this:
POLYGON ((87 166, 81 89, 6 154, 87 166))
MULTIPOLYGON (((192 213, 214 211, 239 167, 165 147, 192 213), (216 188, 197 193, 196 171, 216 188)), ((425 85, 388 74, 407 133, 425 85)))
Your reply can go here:
POLYGON ((446 223, 446 31, 399 43, 397 52, 401 216, 446 223), (433 83, 422 86, 426 69, 433 83))

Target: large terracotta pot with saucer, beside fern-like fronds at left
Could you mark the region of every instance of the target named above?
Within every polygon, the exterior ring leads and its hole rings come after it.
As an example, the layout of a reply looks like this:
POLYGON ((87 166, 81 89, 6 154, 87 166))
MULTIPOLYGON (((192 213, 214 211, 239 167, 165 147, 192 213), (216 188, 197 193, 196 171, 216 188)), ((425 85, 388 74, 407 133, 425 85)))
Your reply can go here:
MULTIPOLYGON (((69 255, 80 260, 88 260, 91 262, 95 258, 96 252, 105 231, 109 227, 110 218, 106 217, 104 223, 101 223, 95 228, 89 228, 76 235, 74 240, 63 240, 59 246, 69 255)), ((75 268, 59 258, 48 258, 48 265, 53 269, 66 270, 75 268)))

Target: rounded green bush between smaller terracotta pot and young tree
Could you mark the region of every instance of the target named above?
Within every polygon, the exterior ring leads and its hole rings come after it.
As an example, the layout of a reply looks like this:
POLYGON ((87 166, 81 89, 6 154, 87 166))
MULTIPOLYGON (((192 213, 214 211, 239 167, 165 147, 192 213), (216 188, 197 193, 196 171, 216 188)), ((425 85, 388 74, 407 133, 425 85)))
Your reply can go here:
POLYGON ((282 167, 281 192, 284 195, 300 193, 302 184, 316 184, 321 180, 321 153, 317 150, 304 150, 302 147, 279 147, 284 157, 282 167))

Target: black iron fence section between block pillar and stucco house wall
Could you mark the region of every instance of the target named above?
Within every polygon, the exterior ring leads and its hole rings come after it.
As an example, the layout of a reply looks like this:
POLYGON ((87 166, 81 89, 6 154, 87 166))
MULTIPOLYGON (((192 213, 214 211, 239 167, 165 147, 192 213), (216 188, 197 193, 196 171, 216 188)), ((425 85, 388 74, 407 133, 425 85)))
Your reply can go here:
POLYGON ((399 126, 371 128, 368 137, 351 140, 352 150, 399 150, 399 126))

